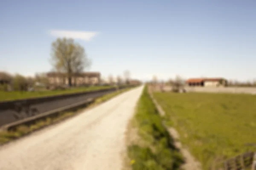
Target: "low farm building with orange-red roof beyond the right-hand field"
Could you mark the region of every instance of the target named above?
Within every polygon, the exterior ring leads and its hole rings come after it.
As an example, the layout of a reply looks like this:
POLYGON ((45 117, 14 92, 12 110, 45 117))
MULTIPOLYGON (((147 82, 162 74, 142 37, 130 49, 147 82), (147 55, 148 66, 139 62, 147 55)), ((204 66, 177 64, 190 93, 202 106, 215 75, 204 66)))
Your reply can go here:
POLYGON ((227 80, 224 78, 192 78, 186 80, 186 85, 201 87, 224 87, 227 86, 227 80))

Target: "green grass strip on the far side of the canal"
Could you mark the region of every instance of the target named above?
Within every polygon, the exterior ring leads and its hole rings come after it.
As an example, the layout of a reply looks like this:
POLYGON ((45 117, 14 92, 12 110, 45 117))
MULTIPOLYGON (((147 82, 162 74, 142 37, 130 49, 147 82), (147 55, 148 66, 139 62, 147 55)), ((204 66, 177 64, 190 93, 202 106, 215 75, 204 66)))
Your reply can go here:
POLYGON ((72 94, 85 91, 100 90, 106 88, 113 88, 113 86, 92 86, 81 87, 67 90, 55 90, 55 91, 0 91, 0 101, 13 100, 13 99, 26 99, 33 97, 54 96, 59 94, 72 94))

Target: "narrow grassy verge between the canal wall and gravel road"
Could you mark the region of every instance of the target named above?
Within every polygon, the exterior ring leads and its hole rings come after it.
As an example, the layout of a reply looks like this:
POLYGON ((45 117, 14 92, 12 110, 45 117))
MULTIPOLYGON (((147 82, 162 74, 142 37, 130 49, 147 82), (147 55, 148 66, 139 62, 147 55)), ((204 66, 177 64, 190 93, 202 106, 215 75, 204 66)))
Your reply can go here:
MULTIPOLYGON (((93 102, 91 105, 89 105, 88 107, 92 107, 95 105, 99 105, 102 102, 105 102, 111 98, 113 98, 114 96, 117 96, 118 94, 121 94, 125 91, 129 91, 131 88, 127 88, 127 89, 122 89, 116 92, 113 92, 111 94, 106 94, 102 97, 99 97, 95 100, 95 102, 93 102)), ((87 107, 87 108, 88 108, 87 107)), ((48 125, 54 124, 56 122, 60 122, 64 119, 67 119, 71 116, 74 116, 78 113, 80 113, 80 111, 83 108, 81 108, 80 110, 78 110, 77 112, 64 112, 64 113, 59 113, 58 116, 55 117, 47 117, 44 118, 42 120, 38 120, 37 122, 35 122, 35 124, 30 125, 30 126, 26 126, 26 125, 20 125, 16 128, 15 131, 5 131, 5 132, 0 132, 0 144, 4 144, 6 142, 12 141, 13 139, 18 139, 24 135, 27 135, 29 133, 32 133, 35 130, 39 130, 42 127, 46 127, 48 125)))

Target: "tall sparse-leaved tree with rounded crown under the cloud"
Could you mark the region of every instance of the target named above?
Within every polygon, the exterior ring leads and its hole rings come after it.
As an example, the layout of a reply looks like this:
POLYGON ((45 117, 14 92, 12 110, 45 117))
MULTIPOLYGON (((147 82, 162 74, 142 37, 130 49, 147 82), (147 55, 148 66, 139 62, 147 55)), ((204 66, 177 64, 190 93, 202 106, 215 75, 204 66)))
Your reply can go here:
POLYGON ((52 65, 56 71, 66 73, 69 85, 72 85, 74 73, 89 68, 91 61, 87 58, 84 48, 73 39, 58 38, 52 42, 52 65))

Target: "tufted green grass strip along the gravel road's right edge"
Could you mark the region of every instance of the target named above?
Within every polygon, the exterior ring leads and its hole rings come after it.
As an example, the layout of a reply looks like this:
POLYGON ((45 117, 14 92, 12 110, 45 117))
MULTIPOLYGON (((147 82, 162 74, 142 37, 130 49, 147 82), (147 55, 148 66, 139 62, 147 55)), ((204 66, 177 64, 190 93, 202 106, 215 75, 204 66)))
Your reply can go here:
POLYGON ((182 156, 173 139, 162 125, 162 119, 144 88, 134 117, 139 140, 128 146, 133 170, 175 170, 182 164, 182 156))

